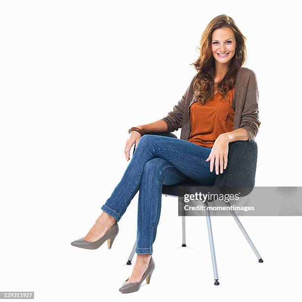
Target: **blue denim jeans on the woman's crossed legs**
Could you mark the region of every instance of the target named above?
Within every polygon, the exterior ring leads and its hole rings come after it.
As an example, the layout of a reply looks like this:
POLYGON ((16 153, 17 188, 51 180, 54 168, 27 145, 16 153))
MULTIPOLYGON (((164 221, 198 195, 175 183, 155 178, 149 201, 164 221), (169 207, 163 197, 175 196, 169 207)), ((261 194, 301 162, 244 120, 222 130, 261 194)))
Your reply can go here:
POLYGON ((152 254, 159 223, 162 185, 194 180, 214 185, 215 166, 205 161, 212 148, 194 143, 145 134, 139 140, 125 173, 101 209, 118 222, 133 197, 139 192, 137 217, 137 254, 152 254))

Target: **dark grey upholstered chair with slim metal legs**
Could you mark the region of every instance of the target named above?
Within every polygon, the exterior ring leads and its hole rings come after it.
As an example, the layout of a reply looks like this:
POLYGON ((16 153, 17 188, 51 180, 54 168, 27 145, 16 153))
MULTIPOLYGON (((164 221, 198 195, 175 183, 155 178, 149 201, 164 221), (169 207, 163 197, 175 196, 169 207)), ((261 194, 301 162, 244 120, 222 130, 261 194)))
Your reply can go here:
MULTIPOLYGON (((178 139, 176 135, 172 133, 148 133, 149 135, 161 135, 161 136, 168 136, 175 139, 178 139)), ((135 151, 135 145, 134 150, 135 151)), ((256 167, 257 167, 257 155, 258 155, 258 146, 255 141, 236 141, 228 144, 228 156, 227 156, 227 168, 224 172, 216 177, 216 181, 214 187, 219 188, 234 188, 234 187, 242 187, 248 188, 245 192, 241 193, 241 196, 248 195, 251 190, 254 188, 255 185, 255 175, 256 175, 256 167)), ((215 169, 215 167, 214 167, 215 169)), ((215 172, 214 172, 215 173, 215 172)), ((186 183, 181 183, 177 185, 163 185, 162 187, 162 194, 165 196, 172 196, 172 197, 184 197, 179 190, 179 186, 182 187, 198 187, 201 186, 200 184, 194 182, 193 180, 186 183)), ((195 192, 195 191, 194 191, 195 192)), ((214 249, 214 242, 213 242, 213 233, 212 233, 212 226, 211 226, 211 217, 210 211, 208 209, 208 202, 204 202, 206 207, 206 218, 207 218, 207 227, 208 227, 208 235, 210 241, 210 249, 211 249, 211 257, 212 257, 212 265, 213 265, 213 272, 214 272, 214 285, 219 285, 218 281, 218 272, 217 272, 217 264, 216 264, 216 256, 215 256, 215 249, 214 249)), ((249 235, 247 234, 246 230, 240 223, 237 215, 233 210, 230 210, 231 215, 233 216, 235 222, 237 223, 238 227, 241 229, 244 237, 248 241, 249 245, 251 246, 252 250, 254 251, 258 261, 263 263, 263 260, 258 253, 255 245, 253 244, 252 240, 250 239, 249 235)), ((182 246, 186 247, 186 216, 182 216, 182 246)), ((127 264, 130 265, 135 254, 136 249, 136 241, 133 245, 131 253, 129 255, 127 264)))

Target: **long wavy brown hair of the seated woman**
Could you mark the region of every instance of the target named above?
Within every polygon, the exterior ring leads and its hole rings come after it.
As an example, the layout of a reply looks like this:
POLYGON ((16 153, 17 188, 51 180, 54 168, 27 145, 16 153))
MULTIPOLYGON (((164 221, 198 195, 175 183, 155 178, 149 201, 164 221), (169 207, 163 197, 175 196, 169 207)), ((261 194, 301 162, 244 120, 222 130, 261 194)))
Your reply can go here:
POLYGON ((227 91, 235 85, 237 73, 246 61, 246 38, 238 29, 234 20, 225 14, 219 15, 211 20, 202 33, 200 46, 197 47, 200 55, 198 59, 192 63, 197 71, 193 84, 194 96, 201 105, 205 104, 205 102, 214 95, 215 59, 212 55, 211 47, 212 33, 218 28, 225 27, 233 31, 236 39, 236 48, 235 54, 231 58, 227 74, 217 84, 217 91, 220 92, 223 97, 226 97, 227 91))

